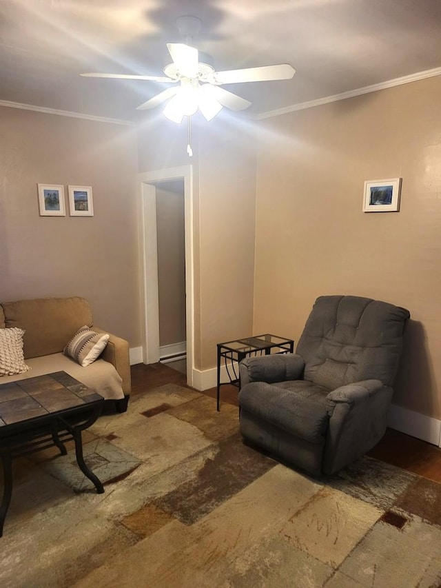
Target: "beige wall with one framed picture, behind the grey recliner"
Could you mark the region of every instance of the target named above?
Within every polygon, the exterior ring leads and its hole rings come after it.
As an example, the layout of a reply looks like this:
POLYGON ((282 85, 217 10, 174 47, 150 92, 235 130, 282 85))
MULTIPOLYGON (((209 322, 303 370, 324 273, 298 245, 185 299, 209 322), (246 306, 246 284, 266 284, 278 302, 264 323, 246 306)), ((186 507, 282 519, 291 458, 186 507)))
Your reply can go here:
POLYGON ((407 307, 393 402, 441 418, 441 77, 261 125, 254 332, 298 340, 316 296, 407 307), (400 212, 363 213, 365 180, 402 177, 400 212))

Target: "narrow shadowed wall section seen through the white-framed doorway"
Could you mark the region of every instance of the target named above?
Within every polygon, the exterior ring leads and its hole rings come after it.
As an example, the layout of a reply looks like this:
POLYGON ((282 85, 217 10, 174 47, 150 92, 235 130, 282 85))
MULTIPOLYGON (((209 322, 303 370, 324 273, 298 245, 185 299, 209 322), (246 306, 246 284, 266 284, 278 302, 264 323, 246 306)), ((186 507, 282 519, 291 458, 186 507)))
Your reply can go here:
POLYGON ((183 180, 156 185, 159 345, 182 343, 185 334, 185 219, 183 180))

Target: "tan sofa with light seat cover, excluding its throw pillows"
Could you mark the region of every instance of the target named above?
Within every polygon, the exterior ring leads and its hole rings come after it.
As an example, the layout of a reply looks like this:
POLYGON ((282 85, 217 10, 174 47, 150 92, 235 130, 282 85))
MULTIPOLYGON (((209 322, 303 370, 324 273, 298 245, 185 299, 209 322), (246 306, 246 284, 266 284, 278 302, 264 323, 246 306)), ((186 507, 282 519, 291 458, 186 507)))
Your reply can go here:
POLYGON ((0 328, 19 327, 25 331, 25 363, 32 369, 14 376, 0 376, 0 384, 64 371, 95 390, 116 409, 127 409, 130 396, 129 345, 125 339, 110 334, 100 358, 81 367, 63 355, 63 348, 84 325, 103 331, 93 324, 88 301, 70 298, 35 298, 0 303, 0 328))

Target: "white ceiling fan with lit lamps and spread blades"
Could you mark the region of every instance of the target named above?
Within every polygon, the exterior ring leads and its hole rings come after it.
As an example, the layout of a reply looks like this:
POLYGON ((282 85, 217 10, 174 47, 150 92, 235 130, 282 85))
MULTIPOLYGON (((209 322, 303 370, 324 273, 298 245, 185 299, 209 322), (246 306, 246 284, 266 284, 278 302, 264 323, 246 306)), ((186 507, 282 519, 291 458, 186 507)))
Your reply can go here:
POLYGON ((167 43, 172 63, 165 66, 163 70, 165 76, 94 72, 80 75, 172 83, 172 88, 156 94, 138 106, 137 110, 148 110, 168 101, 163 114, 167 116, 167 119, 181 123, 184 116, 192 116, 197 110, 201 110, 205 119, 210 121, 224 106, 231 110, 245 110, 251 105, 248 100, 220 88, 223 84, 291 79, 296 73, 296 70, 287 63, 216 72, 209 63, 199 61, 198 50, 190 44, 192 35, 201 28, 201 21, 196 17, 180 17, 176 20, 176 25, 181 34, 185 35, 186 43, 167 43))

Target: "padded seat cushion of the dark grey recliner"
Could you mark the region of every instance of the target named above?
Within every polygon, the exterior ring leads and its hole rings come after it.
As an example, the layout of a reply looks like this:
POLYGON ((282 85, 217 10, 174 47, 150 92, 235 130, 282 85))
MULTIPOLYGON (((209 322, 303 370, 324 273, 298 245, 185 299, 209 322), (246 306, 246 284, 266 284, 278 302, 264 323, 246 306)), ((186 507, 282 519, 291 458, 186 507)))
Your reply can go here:
POLYGON ((328 392, 305 381, 284 382, 283 386, 254 382, 240 390, 239 405, 287 433, 322 443, 329 423, 328 392))

